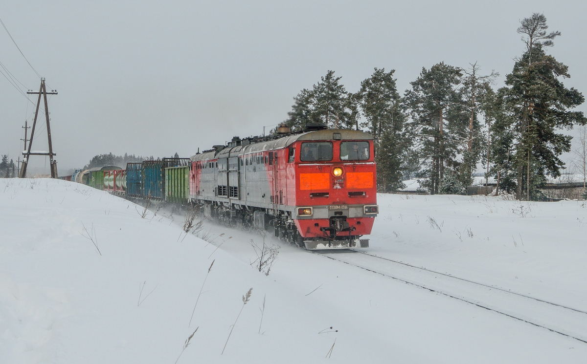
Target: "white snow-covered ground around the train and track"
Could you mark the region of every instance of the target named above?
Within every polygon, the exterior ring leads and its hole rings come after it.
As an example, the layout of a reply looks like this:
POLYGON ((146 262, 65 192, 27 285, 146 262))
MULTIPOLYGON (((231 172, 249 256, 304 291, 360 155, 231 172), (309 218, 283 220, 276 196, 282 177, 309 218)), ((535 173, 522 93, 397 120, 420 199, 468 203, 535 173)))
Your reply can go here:
POLYGON ((585 363, 587 203, 378 202, 370 256, 266 236, 265 275, 258 233, 0 180, 0 363, 585 363))

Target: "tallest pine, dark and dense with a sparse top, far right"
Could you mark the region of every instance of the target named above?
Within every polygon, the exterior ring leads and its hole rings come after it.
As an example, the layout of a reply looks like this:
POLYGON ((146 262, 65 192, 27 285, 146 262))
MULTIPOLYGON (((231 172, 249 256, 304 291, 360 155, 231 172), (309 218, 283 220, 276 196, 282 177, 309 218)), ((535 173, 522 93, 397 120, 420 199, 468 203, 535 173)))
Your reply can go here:
POLYGON ((544 48, 554 45, 560 32, 546 33, 546 17, 534 13, 521 21, 518 33, 524 35, 526 52, 514 64, 501 90, 508 117, 503 125, 514 131, 512 167, 516 173, 516 197, 539 199, 538 188, 546 175, 558 177, 564 168, 559 156, 571 149, 571 137, 558 134, 560 128, 585 124, 581 111, 569 111, 585 100, 573 88, 567 89, 559 77, 568 78, 568 67, 547 55, 544 48))

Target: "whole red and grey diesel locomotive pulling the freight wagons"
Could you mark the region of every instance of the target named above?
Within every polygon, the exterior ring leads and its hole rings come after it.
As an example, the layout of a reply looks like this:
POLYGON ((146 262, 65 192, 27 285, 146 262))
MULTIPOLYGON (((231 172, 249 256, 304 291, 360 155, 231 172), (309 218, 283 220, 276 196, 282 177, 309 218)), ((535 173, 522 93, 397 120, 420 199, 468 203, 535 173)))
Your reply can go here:
POLYGON ((373 138, 313 128, 232 139, 191 157, 190 201, 229 225, 270 229, 306 249, 367 247, 375 216, 373 138))

